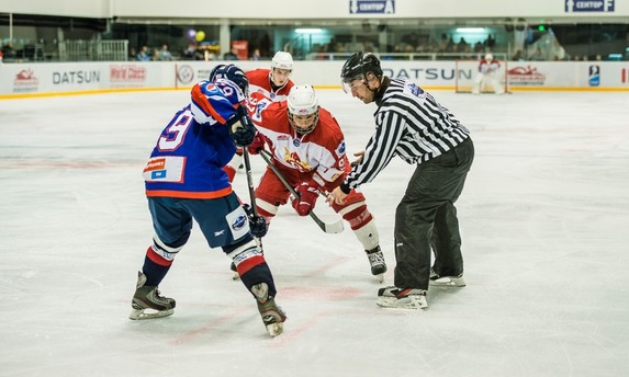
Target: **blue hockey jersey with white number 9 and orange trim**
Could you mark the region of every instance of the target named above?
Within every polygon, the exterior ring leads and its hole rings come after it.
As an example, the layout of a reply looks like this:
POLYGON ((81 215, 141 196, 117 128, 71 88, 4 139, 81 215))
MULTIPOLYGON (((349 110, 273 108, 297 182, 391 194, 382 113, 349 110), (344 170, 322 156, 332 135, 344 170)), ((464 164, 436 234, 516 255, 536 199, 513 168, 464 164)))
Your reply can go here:
POLYGON ((144 168, 146 195, 214 198, 232 193, 222 168, 236 152, 229 126, 244 104, 245 95, 232 81, 195 84, 190 104, 164 128, 144 168))

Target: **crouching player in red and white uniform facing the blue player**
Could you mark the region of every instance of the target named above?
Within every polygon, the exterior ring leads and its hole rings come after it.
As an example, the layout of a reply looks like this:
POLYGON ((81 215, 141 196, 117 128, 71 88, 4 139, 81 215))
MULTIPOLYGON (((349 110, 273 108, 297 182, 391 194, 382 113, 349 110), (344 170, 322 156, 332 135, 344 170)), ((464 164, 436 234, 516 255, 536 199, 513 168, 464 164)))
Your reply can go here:
MULTIPOLYGON (((259 153, 268 146, 273 164, 301 196, 293 198, 293 208, 300 216, 307 216, 319 193, 334 190, 351 170, 340 126, 327 110, 319 107, 311 85, 293 87, 287 101, 282 102, 271 102, 261 93, 254 93, 249 98, 248 112, 258 129, 249 152, 259 153)), ((280 179, 267 168, 256 188, 258 214, 270 222, 289 196, 290 192, 280 179)), ((335 204, 333 208, 349 224, 362 243, 371 273, 382 282, 386 263, 362 193, 352 190, 344 204, 335 204)))

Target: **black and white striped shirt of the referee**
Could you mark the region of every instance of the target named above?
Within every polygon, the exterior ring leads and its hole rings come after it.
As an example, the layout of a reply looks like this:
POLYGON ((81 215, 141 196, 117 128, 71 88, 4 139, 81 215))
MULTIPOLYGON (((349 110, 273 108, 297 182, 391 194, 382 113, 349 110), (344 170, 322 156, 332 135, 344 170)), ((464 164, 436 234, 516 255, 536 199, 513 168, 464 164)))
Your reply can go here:
POLYGON ((470 132, 429 93, 407 80, 383 78, 384 93, 377 100, 375 134, 361 162, 345 180, 349 188, 371 182, 394 156, 422 163, 454 148, 470 132))

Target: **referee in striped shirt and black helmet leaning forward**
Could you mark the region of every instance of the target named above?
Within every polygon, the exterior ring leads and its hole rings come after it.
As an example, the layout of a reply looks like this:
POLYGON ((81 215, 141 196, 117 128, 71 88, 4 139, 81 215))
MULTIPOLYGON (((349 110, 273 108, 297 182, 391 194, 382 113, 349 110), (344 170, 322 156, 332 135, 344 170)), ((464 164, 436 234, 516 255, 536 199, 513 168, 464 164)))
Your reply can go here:
POLYGON ((344 90, 375 102, 375 133, 329 201, 371 182, 394 156, 415 165, 395 210, 395 286, 380 288, 385 308, 423 309, 428 285, 462 287, 463 258, 454 202, 474 159, 470 132, 417 84, 382 75, 373 54, 353 54, 342 66, 344 90), (430 267, 431 250, 435 264, 430 267))

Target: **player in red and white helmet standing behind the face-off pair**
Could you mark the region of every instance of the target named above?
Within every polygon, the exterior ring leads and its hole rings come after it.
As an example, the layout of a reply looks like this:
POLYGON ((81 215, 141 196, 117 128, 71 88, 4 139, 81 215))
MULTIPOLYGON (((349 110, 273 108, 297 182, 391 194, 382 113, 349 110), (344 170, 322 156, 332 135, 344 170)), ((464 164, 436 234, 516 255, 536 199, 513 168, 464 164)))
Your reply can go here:
MULTIPOLYGON (((258 68, 245 73, 249 80, 249 93, 260 93, 271 101, 284 101, 294 85, 294 82, 291 80, 292 72, 292 55, 287 52, 278 52, 271 59, 271 69, 258 68)), ((229 182, 234 181, 236 171, 242 163, 243 149, 238 148, 232 161, 224 169, 229 182)))

